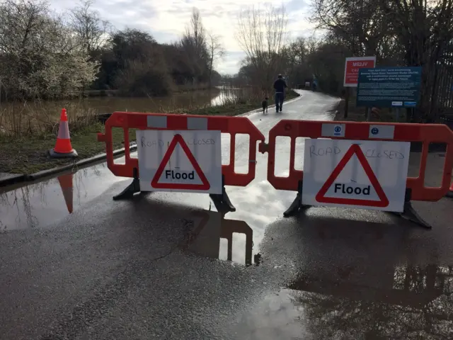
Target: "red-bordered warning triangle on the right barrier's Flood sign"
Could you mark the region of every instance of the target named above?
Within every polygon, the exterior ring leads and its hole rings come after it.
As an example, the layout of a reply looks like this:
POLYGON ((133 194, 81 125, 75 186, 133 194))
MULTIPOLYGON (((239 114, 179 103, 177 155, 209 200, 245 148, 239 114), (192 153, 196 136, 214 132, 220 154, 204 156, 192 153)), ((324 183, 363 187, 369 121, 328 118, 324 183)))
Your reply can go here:
POLYGON ((373 169, 369 166, 367 161, 367 157, 360 149, 360 146, 357 144, 351 145, 348 149, 348 152, 345 153, 343 159, 337 164, 336 168, 333 169, 331 176, 328 177, 326 183, 321 187, 319 193, 316 194, 316 200, 319 203, 335 203, 335 204, 347 204, 347 205, 365 205, 367 207, 377 207, 377 208, 385 208, 389 205, 389 199, 382 190, 381 184, 374 175, 373 169), (328 189, 332 186, 333 182, 337 179, 340 175, 341 171, 345 168, 346 164, 348 164, 349 160, 352 158, 353 155, 357 156, 359 159, 360 164, 362 164, 363 169, 365 170, 365 174, 367 174, 371 185, 373 186, 374 190, 379 197, 379 200, 359 200, 357 198, 338 198, 338 197, 326 197, 326 193, 328 189))

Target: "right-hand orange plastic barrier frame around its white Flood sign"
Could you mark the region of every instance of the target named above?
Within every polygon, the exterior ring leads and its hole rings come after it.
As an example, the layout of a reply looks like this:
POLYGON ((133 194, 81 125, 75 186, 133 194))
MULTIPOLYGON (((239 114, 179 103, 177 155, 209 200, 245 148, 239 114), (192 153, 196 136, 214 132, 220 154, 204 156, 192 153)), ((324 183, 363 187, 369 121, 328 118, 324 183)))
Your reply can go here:
POLYGON ((326 122, 314 120, 280 120, 269 132, 268 144, 259 146, 260 152, 268 152, 268 181, 276 189, 300 191, 303 171, 294 169, 295 146, 297 137, 331 138, 343 140, 391 140, 395 142, 423 143, 420 173, 417 177, 408 177, 406 192, 408 200, 437 201, 449 191, 453 168, 453 132, 447 125, 440 124, 409 124, 409 123, 375 123, 375 122, 326 122), (336 125, 342 126, 342 137, 334 137, 333 129, 336 125), (370 137, 372 128, 390 126, 393 135, 389 138, 370 137), (275 139, 279 136, 290 137, 289 176, 275 176, 275 139), (440 188, 425 187, 425 171, 430 143, 445 143, 447 152, 440 188))

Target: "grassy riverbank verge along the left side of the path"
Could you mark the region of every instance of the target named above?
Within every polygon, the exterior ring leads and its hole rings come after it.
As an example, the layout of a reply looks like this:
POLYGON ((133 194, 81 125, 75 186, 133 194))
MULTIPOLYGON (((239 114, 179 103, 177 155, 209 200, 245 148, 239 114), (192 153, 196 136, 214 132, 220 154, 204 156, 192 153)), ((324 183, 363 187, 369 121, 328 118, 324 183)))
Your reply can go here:
MULTIPOLYGON (((297 98, 299 94, 290 91, 286 100, 297 98)), ((272 104, 272 101, 270 101, 272 104)), ((180 109, 168 113, 193 115, 241 115, 260 108, 259 98, 239 99, 229 101, 221 106, 205 106, 191 110, 180 109)), ((58 122, 55 122, 57 124, 58 122)), ((105 152, 105 144, 97 141, 97 133, 103 132, 104 127, 98 121, 87 125, 71 124, 71 144, 79 157, 74 159, 51 159, 49 149, 55 147, 56 132, 26 137, 1 137, 0 135, 0 173, 34 174, 38 171, 52 169, 57 166, 73 164, 81 159, 87 159, 105 152)), ((134 134, 131 135, 131 137, 134 134)), ((115 149, 124 147, 123 132, 113 129, 115 149)))

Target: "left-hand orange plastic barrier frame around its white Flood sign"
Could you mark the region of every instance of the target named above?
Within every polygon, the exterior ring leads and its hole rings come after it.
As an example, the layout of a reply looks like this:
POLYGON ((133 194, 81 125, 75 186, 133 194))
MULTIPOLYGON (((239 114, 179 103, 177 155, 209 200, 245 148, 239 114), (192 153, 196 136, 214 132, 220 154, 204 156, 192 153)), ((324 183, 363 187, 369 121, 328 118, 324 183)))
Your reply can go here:
MULTIPOLYGON (((246 117, 205 115, 177 115, 162 113, 115 112, 105 121, 105 133, 98 133, 98 141, 105 142, 108 169, 115 176, 138 178, 138 159, 130 157, 129 129, 138 130, 217 130, 231 135, 229 164, 222 165, 225 186, 246 186, 255 178, 256 142, 265 140, 264 135, 246 117), (112 128, 122 128, 125 140, 125 164, 114 164, 112 128), (250 136, 248 173, 236 174, 235 142, 237 134, 250 136)), ((135 190, 137 191, 137 190, 135 190)))

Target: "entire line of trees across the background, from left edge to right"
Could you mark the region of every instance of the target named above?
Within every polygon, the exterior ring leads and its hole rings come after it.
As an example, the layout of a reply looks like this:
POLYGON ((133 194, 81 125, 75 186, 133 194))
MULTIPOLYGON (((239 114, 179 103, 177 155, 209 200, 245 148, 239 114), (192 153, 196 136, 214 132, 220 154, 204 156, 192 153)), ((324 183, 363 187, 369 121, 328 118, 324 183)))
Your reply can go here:
MULTIPOLYGON (((196 9, 181 38, 161 44, 142 30, 115 30, 92 5, 82 0, 58 14, 44 0, 1 2, 2 98, 61 98, 84 89, 159 96, 219 83, 214 66, 224 49, 196 9)), ((310 20, 321 38, 290 40, 285 8, 241 9, 236 40, 246 57, 222 82, 271 94, 281 73, 293 87, 316 78, 321 91, 341 94, 345 57, 374 55, 378 66, 423 67, 416 121, 453 107, 452 0, 313 0, 310 20)))

